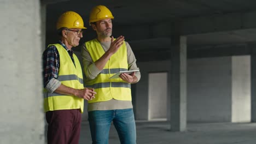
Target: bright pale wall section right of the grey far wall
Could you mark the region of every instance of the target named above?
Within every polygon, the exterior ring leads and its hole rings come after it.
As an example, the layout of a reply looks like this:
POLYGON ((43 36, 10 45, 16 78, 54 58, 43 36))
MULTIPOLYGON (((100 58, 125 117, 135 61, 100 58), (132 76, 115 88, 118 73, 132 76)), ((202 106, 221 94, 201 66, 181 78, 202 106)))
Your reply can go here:
POLYGON ((232 57, 232 122, 251 121, 251 57, 232 57))

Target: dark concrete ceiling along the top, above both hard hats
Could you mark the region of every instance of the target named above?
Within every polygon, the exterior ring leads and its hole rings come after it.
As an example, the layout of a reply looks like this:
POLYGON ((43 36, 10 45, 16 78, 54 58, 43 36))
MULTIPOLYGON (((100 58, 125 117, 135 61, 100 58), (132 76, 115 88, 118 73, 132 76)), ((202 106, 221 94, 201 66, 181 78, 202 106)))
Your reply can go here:
POLYGON ((237 13, 256 9, 254 0, 130 0, 130 1, 92 1, 71 0, 49 4, 48 10, 61 14, 75 10, 88 19, 95 5, 106 5, 121 24, 162 21, 172 18, 197 17, 203 15, 237 13), (56 8, 57 7, 57 8, 56 8))

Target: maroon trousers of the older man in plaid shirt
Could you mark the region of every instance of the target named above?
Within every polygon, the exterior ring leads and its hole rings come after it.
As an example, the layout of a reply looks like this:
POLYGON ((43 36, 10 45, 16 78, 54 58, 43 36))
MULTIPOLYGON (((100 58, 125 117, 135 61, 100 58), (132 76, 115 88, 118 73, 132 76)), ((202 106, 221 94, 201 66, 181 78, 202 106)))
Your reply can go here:
POLYGON ((82 122, 80 109, 46 112, 48 144, 78 144, 82 122))

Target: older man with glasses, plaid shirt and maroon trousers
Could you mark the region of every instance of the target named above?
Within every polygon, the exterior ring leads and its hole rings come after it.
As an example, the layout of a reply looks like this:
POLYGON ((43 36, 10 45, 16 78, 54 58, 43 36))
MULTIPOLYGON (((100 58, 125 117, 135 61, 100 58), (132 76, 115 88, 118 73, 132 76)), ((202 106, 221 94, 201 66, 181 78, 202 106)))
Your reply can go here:
POLYGON ((74 11, 63 13, 56 26, 60 41, 43 53, 44 111, 48 123, 48 144, 78 144, 84 99, 96 94, 84 88, 82 68, 72 47, 79 45, 85 29, 74 11))

